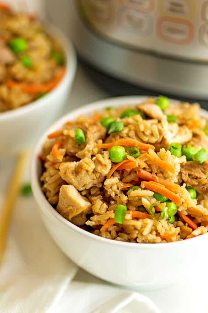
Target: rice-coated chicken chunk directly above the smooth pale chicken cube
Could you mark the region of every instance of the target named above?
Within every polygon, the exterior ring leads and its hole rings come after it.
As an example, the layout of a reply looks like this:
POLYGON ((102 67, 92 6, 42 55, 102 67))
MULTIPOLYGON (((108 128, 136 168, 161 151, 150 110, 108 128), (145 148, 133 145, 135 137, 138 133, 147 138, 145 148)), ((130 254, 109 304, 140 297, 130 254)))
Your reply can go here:
POLYGON ((78 190, 100 186, 105 176, 95 170, 94 162, 84 158, 79 162, 64 162, 60 164, 60 176, 78 190))

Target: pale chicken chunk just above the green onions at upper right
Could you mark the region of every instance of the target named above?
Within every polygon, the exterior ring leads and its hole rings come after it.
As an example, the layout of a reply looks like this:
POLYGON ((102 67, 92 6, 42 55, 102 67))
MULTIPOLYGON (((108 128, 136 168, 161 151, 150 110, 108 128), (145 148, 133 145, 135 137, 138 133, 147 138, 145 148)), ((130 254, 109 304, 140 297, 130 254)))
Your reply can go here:
POLYGON ((190 141, 192 132, 186 126, 178 126, 176 123, 168 124, 168 130, 164 132, 162 141, 155 144, 156 151, 164 147, 166 150, 170 149, 172 142, 181 143, 181 145, 190 141))

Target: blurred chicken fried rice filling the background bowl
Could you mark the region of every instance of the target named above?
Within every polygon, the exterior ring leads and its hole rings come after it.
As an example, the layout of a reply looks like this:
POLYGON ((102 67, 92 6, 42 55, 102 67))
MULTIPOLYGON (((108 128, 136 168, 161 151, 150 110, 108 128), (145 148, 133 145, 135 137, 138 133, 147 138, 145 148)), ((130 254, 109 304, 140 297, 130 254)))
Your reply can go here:
POLYGON ((60 44, 36 17, 0 3, 0 113, 40 99, 64 73, 60 44))

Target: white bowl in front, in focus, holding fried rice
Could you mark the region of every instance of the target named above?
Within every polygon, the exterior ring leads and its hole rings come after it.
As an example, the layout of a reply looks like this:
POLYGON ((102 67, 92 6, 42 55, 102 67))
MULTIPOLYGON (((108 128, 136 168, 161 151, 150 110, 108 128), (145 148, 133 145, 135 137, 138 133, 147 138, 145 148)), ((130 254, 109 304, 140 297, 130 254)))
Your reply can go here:
MULTIPOLYGON (((53 124, 38 141, 31 164, 31 185, 41 218, 60 249, 89 273, 111 283, 160 288, 182 278, 195 265, 206 260, 208 234, 165 244, 136 244, 105 239, 89 233, 63 218, 47 201, 39 181, 41 162, 38 154, 47 134, 60 129, 65 121, 78 115, 91 115, 106 106, 136 104, 146 97, 119 97, 85 105, 70 112, 53 124)), ((208 112, 203 110, 208 117, 208 112)), ((61 266, 61 264, 60 264, 61 266)))

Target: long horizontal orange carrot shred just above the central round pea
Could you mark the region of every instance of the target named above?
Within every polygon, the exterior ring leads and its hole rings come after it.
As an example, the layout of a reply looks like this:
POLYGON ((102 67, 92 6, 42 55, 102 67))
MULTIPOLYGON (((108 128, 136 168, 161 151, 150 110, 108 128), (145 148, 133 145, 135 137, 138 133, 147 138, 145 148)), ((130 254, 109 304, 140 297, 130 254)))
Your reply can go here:
POLYGON ((148 145, 146 143, 142 143, 142 142, 139 142, 137 140, 130 139, 130 138, 127 138, 127 139, 122 138, 122 139, 118 139, 118 140, 110 142, 110 143, 98 144, 98 148, 103 148, 103 149, 110 149, 113 146, 132 146, 132 147, 137 147, 137 148, 144 150, 144 151, 148 151, 150 148, 152 150, 155 150, 155 147, 152 145, 148 145))

